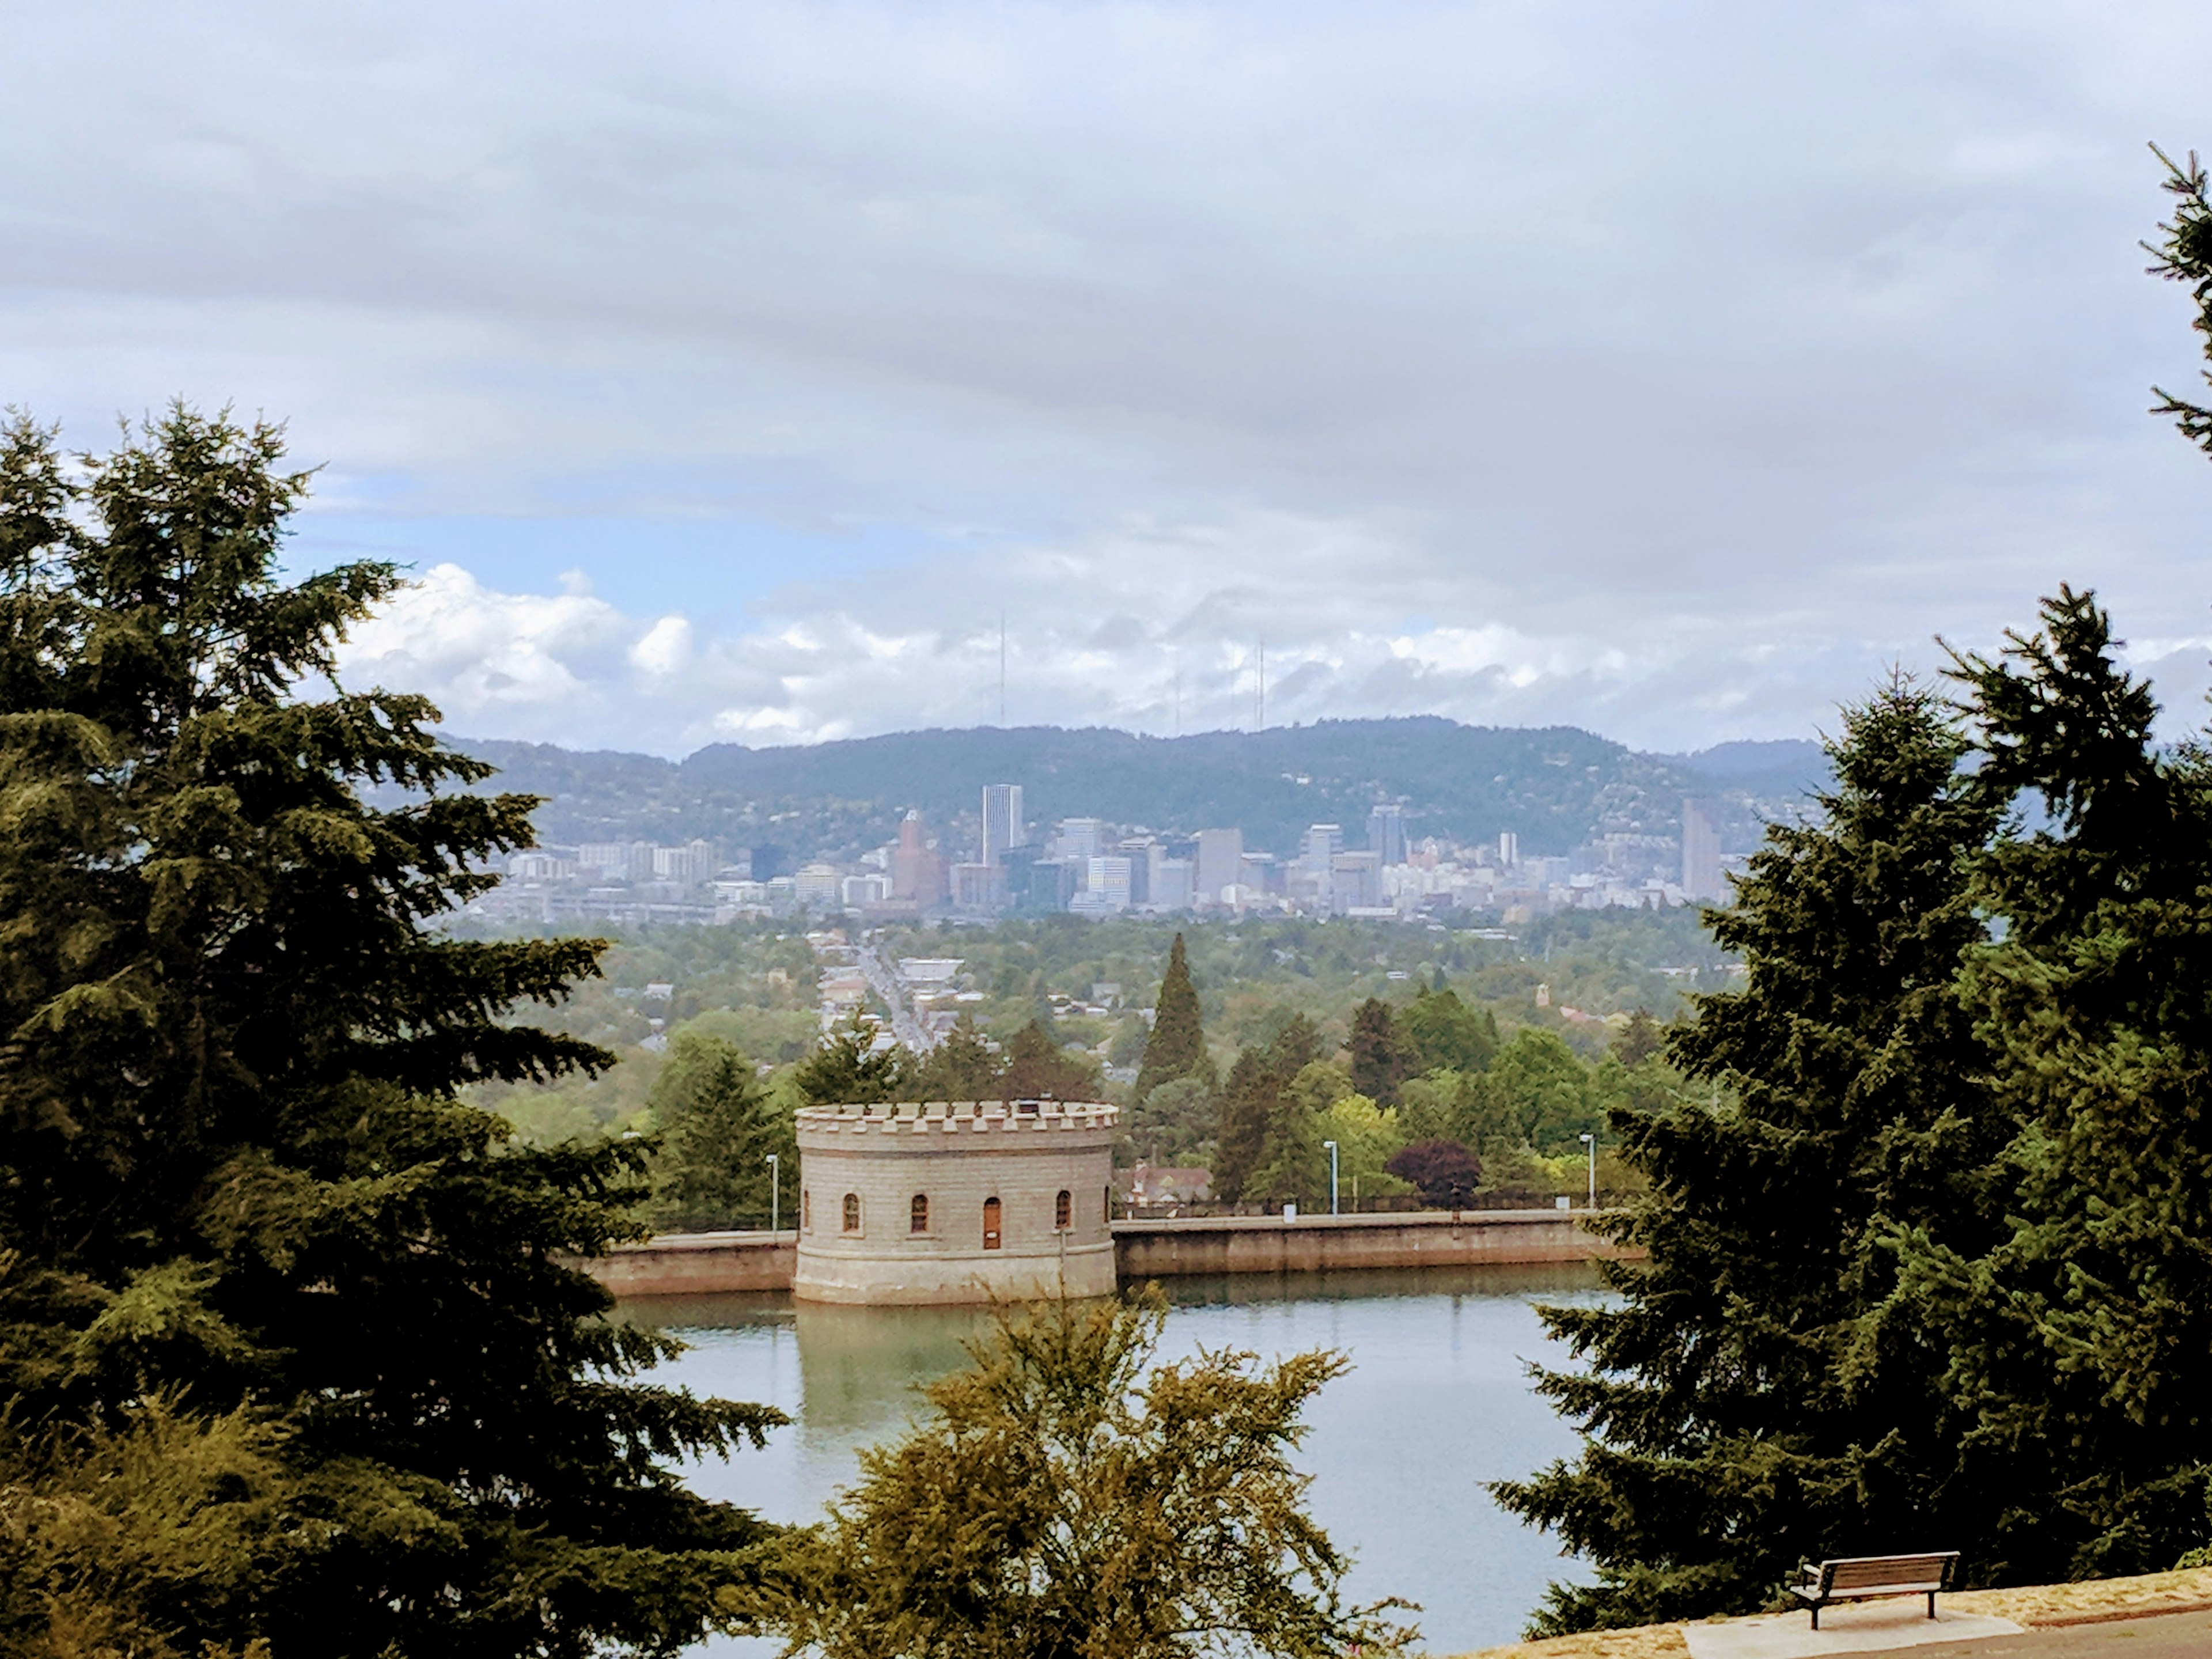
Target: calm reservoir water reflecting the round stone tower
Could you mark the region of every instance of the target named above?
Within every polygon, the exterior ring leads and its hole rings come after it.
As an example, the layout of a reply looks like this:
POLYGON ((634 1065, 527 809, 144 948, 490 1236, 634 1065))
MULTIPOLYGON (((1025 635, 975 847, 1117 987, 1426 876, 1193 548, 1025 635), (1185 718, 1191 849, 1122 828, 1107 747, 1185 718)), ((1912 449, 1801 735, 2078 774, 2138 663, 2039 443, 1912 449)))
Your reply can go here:
MULTIPOLYGON (((1588 1267, 1186 1279, 1168 1294, 1161 1358, 1201 1345, 1349 1354, 1349 1376, 1307 1413, 1298 1462, 1314 1478, 1314 1517, 1358 1557, 1352 1595, 1420 1601, 1409 1617, 1429 1652, 1513 1641, 1551 1579, 1582 1577, 1482 1482, 1575 1449, 1526 1365, 1564 1363, 1535 1307, 1597 1301, 1588 1267)), ((657 1296, 624 1303, 624 1314, 690 1343, 657 1383, 792 1416, 768 1451, 695 1469, 701 1491, 779 1522, 816 1520, 854 1480, 860 1447, 900 1433, 922 1405, 916 1387, 962 1365, 962 1340, 984 1325, 978 1310, 825 1307, 785 1294, 657 1296)), ((714 1641, 710 1652, 750 1659, 774 1644, 714 1641)))

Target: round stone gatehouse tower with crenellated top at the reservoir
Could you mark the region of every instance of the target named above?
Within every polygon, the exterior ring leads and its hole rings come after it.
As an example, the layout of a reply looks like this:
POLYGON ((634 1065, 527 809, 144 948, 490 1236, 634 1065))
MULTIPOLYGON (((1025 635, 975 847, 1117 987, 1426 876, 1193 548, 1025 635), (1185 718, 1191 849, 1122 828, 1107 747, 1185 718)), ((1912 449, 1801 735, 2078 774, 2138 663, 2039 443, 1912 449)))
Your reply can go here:
POLYGON ((1106 1296, 1117 1106, 799 1113, 799 1276, 818 1303, 1106 1296))

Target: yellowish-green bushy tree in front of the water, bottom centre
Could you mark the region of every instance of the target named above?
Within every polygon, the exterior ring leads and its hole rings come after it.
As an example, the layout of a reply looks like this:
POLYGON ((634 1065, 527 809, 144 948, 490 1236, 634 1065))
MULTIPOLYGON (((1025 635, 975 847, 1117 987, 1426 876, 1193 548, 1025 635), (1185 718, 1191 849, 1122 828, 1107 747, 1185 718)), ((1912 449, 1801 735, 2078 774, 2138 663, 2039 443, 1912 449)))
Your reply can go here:
POLYGON ((830 1522, 785 1548, 765 1608, 823 1659, 1183 1659, 1391 1652, 1290 1458, 1336 1354, 1155 1365, 1164 1303, 1000 1314, 931 1413, 863 1453, 830 1522))

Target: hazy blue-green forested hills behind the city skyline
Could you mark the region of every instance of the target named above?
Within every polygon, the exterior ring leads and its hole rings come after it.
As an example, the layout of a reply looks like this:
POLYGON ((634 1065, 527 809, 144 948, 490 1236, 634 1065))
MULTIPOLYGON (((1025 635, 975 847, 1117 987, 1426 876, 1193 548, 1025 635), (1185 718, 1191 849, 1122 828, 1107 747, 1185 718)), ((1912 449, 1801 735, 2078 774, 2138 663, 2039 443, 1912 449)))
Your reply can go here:
POLYGON ((451 739, 491 761, 489 787, 549 796, 540 836, 776 847, 785 858, 856 856, 920 807, 956 847, 975 838, 987 783, 1020 783, 1031 823, 1097 816, 1164 834, 1239 827, 1245 845, 1294 852, 1310 823, 1365 845, 1367 810, 1405 805, 1407 834, 1460 843, 1513 830, 1526 854, 1599 834, 1674 836, 1686 794, 1723 803, 1723 843, 1825 781, 1816 743, 1723 743, 1639 754, 1571 726, 1498 728, 1416 717, 1318 721, 1263 732, 1137 737, 1053 726, 894 732, 845 743, 717 743, 684 761, 551 743, 451 739))

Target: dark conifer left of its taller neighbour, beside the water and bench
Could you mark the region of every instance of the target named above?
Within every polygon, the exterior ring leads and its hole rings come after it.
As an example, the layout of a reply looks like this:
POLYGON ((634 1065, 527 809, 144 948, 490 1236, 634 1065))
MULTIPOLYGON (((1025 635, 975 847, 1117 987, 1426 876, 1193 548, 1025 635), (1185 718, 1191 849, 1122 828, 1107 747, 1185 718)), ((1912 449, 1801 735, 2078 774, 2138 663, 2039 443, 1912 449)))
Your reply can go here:
MULTIPOLYGON (((1958 995, 1995 825, 1944 706, 1898 679, 1845 712, 1818 823, 1778 823, 1736 905, 1747 969, 1672 1037, 1681 1093, 1613 1108, 1650 1197, 1610 1232, 1615 1307, 1546 1323, 1588 1369, 1540 1389, 1584 1451, 1495 1491, 1599 1571, 1535 1628, 1761 1606, 1801 1557, 1916 1548, 1951 1469, 1942 1347, 1889 1316, 1900 1230, 1980 1248, 2006 1126, 1958 995)), ((1949 1533, 1944 1533, 1949 1542, 1949 1533)))

